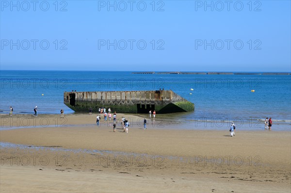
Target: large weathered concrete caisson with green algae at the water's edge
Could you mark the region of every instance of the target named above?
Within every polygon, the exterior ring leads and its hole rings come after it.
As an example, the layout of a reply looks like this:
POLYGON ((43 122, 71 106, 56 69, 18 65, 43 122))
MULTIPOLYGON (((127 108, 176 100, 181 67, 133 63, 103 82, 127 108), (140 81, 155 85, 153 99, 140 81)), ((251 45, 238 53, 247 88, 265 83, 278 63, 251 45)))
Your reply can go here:
POLYGON ((88 112, 91 107, 111 108, 119 113, 176 113, 194 111, 194 104, 172 90, 65 92, 64 103, 76 112, 88 112))

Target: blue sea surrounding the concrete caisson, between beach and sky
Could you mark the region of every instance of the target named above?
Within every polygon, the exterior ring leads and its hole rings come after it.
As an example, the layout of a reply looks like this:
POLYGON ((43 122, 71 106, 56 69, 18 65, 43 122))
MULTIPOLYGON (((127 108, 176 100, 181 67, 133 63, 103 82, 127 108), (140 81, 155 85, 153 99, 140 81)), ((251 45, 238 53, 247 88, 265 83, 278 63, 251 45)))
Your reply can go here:
MULTIPOLYGON (((242 72, 241 72, 242 73, 242 72)), ((290 72, 289 72, 290 73, 290 72)), ((291 131, 291 75, 132 74, 131 71, 0 71, 0 115, 75 113, 65 91, 173 90, 194 103, 194 112, 157 114, 157 127, 291 131)), ((107 109, 110 106, 107 107, 107 109)), ((114 108, 111 107, 114 111, 114 108)), ((117 112, 118 113, 118 112, 117 112)), ((139 115, 148 117, 148 115, 139 115)), ((93 123, 92 123, 93 124, 93 123)))

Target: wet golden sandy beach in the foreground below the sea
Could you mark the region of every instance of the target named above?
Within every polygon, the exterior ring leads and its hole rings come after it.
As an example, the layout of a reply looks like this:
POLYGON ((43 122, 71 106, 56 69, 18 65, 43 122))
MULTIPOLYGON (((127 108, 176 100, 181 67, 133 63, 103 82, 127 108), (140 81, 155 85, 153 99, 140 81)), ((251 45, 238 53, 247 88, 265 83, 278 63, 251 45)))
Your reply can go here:
POLYGON ((0 192, 291 192, 291 133, 1 116, 0 192), (12 129, 11 129, 12 128, 12 129))

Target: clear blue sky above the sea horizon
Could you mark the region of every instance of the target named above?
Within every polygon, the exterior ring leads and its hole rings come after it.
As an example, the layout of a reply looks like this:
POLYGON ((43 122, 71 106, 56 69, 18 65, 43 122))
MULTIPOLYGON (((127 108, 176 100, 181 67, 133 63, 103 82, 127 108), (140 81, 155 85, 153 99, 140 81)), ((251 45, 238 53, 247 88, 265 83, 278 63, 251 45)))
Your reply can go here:
POLYGON ((291 71, 290 0, 55 2, 0 0, 1 70, 291 71))

